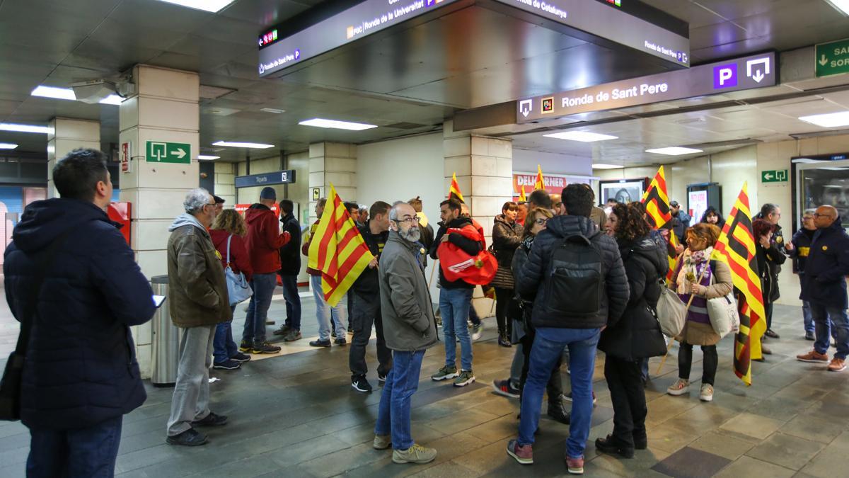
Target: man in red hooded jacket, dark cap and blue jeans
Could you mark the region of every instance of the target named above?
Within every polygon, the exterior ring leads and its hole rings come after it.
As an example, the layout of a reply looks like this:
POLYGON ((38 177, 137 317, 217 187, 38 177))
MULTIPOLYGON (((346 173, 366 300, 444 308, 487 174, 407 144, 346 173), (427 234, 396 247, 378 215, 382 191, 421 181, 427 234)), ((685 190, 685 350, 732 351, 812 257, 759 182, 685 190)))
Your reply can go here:
POLYGON ((277 287, 277 271, 280 270, 278 250, 290 241, 291 236, 286 231, 280 233, 277 216, 271 210, 275 202, 277 193, 274 188, 266 186, 260 192, 260 202, 251 204, 245 211, 245 222, 248 224, 246 242, 250 266, 254 270, 250 288, 254 295, 248 304, 245 332, 242 333, 239 350, 250 354, 276 354, 280 351, 277 345, 266 342, 265 325, 271 296, 274 287, 277 287))

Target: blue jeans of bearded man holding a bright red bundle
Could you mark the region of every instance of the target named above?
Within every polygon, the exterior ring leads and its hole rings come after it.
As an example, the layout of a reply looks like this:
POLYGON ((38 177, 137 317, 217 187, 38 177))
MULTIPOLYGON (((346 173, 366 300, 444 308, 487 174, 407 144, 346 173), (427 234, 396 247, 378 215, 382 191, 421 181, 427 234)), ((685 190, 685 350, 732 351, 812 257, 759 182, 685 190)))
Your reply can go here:
POLYGON ((447 289, 439 291, 439 310, 442 315, 442 333, 445 335, 445 365, 457 365, 457 345, 460 342, 460 368, 472 369, 472 341, 469 338, 469 318, 474 289, 447 289))

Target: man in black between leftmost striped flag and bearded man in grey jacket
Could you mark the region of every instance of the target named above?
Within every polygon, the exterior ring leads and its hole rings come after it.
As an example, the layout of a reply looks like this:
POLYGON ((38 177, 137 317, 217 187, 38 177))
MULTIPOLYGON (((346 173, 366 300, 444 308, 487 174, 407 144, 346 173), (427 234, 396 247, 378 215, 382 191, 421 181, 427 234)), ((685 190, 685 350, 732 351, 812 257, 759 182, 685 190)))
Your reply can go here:
POLYGON ((374 255, 374 259, 368 263, 368 267, 357 277, 357 281, 351 286, 348 299, 351 300, 351 351, 348 355, 348 366, 351 367, 351 388, 358 392, 368 393, 372 390, 371 384, 366 379, 368 365, 366 365, 366 346, 371 338, 371 327, 377 330, 377 379, 383 383, 386 375, 392 369, 392 352, 386 348, 383 339, 383 321, 380 317, 380 284, 378 282, 378 265, 380 253, 389 236, 389 210, 392 207, 387 202, 378 201, 372 204, 368 215, 371 219, 360 228, 360 235, 366 242, 368 250, 374 255))

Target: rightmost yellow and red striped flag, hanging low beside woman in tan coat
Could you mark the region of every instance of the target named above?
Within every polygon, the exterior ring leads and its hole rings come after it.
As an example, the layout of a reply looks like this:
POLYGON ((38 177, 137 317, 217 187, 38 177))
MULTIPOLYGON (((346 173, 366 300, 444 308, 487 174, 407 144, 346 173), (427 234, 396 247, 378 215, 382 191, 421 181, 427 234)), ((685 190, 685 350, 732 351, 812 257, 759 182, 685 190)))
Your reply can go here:
POLYGON ((762 358, 761 337, 767 331, 767 323, 746 183, 743 183, 734 208, 725 219, 722 234, 713 247, 713 259, 728 265, 734 288, 738 291, 740 331, 734 339, 734 373, 745 384, 751 385, 751 361, 762 358))

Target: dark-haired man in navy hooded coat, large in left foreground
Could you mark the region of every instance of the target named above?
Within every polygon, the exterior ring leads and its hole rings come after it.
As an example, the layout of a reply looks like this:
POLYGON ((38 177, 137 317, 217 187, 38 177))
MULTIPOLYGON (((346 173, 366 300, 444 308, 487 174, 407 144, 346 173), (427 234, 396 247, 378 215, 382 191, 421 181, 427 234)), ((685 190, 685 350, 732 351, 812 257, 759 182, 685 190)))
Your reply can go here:
POLYGON ((147 397, 130 327, 148 322, 155 305, 120 226, 104 213, 112 197, 105 160, 95 150, 59 160, 61 199, 27 206, 6 248, 9 309, 31 322, 20 396, 28 476, 112 476, 123 415, 147 397))

